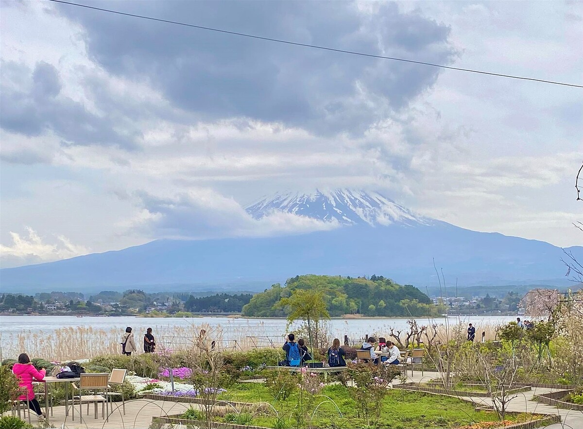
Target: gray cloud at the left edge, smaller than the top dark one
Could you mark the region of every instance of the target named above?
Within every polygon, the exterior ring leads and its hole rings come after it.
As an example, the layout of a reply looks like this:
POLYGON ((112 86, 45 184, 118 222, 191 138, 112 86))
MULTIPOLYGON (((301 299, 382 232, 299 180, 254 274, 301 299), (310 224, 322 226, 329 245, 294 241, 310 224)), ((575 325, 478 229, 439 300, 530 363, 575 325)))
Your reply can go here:
MULTIPOLYGON (((0 127, 25 136, 52 131, 63 145, 104 145, 134 147, 141 135, 124 118, 87 110, 79 101, 61 94, 57 69, 38 62, 31 70, 16 62, 2 62, 0 127), (123 125, 123 126, 122 126, 123 125)), ((6 160, 15 162, 12 158, 6 160)), ((30 159, 23 162, 30 162, 30 159)))

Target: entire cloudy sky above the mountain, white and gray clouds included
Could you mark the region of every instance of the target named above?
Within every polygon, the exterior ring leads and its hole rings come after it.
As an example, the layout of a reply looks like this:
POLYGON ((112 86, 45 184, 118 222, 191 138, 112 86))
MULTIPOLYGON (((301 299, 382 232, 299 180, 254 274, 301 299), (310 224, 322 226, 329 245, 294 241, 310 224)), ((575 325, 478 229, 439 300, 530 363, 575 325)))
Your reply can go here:
MULTIPOLYGON (((350 51, 583 83, 583 3, 90 2, 350 51)), ((2 266, 156 238, 296 233, 243 207, 380 191, 461 227, 582 244, 583 90, 1 2, 2 266)))

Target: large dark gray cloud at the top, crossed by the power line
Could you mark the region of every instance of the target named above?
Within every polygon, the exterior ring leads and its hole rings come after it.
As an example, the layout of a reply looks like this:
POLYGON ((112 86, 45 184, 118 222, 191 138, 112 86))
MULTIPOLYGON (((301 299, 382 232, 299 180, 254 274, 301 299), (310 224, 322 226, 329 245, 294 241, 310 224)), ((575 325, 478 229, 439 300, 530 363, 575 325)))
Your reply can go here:
MULTIPOLYGON (((308 44, 448 64, 449 29, 394 3, 99 1, 88 4, 308 44)), ((75 8, 89 54, 145 78, 201 119, 250 117, 312 131, 359 132, 433 85, 438 69, 252 40, 75 8)))

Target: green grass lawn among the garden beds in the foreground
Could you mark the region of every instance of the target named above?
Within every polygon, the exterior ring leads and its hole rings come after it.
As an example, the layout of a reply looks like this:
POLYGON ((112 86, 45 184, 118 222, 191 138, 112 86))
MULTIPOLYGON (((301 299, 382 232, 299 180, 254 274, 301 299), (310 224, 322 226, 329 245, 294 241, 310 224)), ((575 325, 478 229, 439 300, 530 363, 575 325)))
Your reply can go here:
MULTIPOLYGON (((391 390, 382 403, 381 418, 370 421, 356 416, 357 405, 343 385, 329 385, 321 393, 328 396, 339 407, 342 416, 332 403, 324 403, 314 415, 311 427, 329 428, 456 428, 479 421, 498 421, 494 412, 476 412, 474 407, 467 402, 447 396, 430 395, 421 392, 409 392, 404 390, 391 390)), ((268 402, 278 411, 280 424, 277 424, 275 412, 273 416, 255 416, 253 425, 265 427, 291 428, 295 422, 289 419, 294 408, 298 404, 297 394, 290 396, 286 401, 275 401, 268 389, 259 383, 236 384, 220 396, 220 399, 236 402, 268 402), (282 418, 283 416, 283 418, 282 418), (287 424, 282 424, 287 421, 287 424)), ((327 400, 319 396, 317 403, 327 400)), ((512 417, 507 417, 512 420, 512 417)), ((304 424, 303 427, 308 427, 304 424)))

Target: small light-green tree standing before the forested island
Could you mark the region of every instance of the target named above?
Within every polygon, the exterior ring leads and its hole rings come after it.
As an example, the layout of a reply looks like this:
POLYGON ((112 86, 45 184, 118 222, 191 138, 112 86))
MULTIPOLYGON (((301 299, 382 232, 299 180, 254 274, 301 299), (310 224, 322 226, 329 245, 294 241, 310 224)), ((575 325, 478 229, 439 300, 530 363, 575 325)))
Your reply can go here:
POLYGON ((296 289, 289 298, 282 298, 278 307, 287 308, 287 322, 293 323, 300 319, 308 325, 308 337, 310 341, 310 351, 314 356, 314 327, 321 319, 329 319, 330 314, 324 302, 324 293, 315 290, 296 289))

